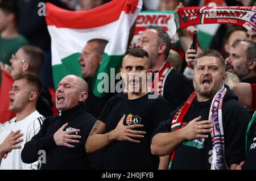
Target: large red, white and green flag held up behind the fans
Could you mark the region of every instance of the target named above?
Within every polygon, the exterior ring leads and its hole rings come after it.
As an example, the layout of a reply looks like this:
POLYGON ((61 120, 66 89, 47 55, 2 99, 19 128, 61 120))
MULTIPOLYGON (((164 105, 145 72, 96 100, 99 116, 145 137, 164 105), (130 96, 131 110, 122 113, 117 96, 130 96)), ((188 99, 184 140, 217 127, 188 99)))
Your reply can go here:
POLYGON ((89 40, 104 39, 109 43, 104 50, 100 68, 94 74, 92 86, 94 95, 106 95, 104 88, 114 87, 115 82, 110 81, 110 68, 115 69, 115 74, 119 72, 130 27, 141 8, 142 0, 113 0, 88 11, 68 11, 46 3, 55 87, 65 75, 82 77, 78 60, 82 48, 89 40), (104 78, 98 78, 100 73, 109 76, 108 85, 100 86, 104 81, 104 78))

